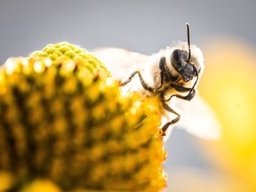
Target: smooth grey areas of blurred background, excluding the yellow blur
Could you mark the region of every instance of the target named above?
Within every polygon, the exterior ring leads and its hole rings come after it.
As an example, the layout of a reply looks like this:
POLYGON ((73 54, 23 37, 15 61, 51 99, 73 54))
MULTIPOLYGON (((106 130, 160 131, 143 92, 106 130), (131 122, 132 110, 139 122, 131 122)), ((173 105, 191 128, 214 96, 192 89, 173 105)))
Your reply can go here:
MULTIPOLYGON (((255 0, 23 0, 0 2, 0 63, 27 56, 46 44, 67 41, 86 49, 116 46, 153 53, 173 41, 186 41, 204 50, 214 36, 231 36, 256 45, 255 0)), ((210 171, 196 138, 175 130, 166 144, 166 171, 191 167, 210 171)), ((172 187, 172 181, 169 184, 172 187)))

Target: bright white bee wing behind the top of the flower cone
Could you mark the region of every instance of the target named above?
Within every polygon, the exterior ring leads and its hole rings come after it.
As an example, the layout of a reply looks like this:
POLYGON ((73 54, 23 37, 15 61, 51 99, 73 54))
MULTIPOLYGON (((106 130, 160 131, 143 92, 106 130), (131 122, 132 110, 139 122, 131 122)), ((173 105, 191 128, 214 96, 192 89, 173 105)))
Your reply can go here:
POLYGON ((132 69, 140 68, 149 58, 145 54, 114 47, 99 48, 92 52, 104 62, 112 76, 119 80, 129 76, 132 69))

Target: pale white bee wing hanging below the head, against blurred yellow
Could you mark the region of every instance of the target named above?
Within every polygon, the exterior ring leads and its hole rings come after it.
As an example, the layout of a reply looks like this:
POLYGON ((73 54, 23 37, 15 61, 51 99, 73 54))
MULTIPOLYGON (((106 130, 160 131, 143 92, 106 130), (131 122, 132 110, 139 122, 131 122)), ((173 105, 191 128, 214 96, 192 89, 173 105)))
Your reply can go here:
POLYGON ((182 111, 177 126, 199 138, 217 140, 221 133, 219 120, 212 108, 198 95, 198 92, 196 93, 193 100, 180 100, 177 103, 177 108, 182 111))

